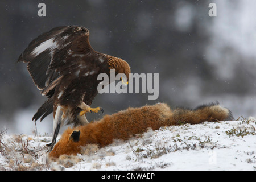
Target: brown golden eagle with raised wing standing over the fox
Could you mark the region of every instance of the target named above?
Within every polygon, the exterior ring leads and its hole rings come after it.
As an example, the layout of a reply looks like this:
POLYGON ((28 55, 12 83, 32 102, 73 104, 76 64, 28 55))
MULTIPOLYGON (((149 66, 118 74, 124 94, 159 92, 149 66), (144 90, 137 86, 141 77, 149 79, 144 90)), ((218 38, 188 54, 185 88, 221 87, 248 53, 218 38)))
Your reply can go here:
POLYGON ((98 94, 100 73, 110 76, 124 73, 129 79, 130 66, 118 57, 96 52, 90 46, 89 30, 81 26, 56 27, 32 40, 18 62, 27 63, 27 69, 42 95, 48 99, 32 118, 42 121, 53 112, 53 139, 64 123, 74 126, 88 123, 85 113, 98 112, 90 108, 98 94))

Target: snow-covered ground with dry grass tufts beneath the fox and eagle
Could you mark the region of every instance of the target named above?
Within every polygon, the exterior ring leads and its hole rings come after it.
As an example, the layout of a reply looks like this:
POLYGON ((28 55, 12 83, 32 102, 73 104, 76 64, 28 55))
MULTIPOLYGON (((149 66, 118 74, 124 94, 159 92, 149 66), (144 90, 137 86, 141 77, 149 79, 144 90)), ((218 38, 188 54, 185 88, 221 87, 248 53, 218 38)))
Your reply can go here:
POLYGON ((161 127, 84 154, 47 157, 51 137, 2 132, 0 169, 38 170, 256 170, 256 122, 204 122, 161 127))

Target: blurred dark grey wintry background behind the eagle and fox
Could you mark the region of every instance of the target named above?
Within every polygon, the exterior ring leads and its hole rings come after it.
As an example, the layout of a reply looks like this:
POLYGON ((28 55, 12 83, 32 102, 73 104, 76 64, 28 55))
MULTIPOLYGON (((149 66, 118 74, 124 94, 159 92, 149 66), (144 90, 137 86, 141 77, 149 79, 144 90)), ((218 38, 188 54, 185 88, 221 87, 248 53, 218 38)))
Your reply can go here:
MULTIPOLYGON (((57 26, 89 29, 92 47, 121 57, 132 73, 159 73, 158 100, 148 94, 98 94, 104 114, 166 102, 196 107, 219 101, 234 118, 256 116, 256 1, 14 1, 1 0, 0 130, 32 134, 41 96, 19 55, 32 39, 57 26), (46 17, 38 4, 46 4, 46 17), (217 16, 210 17, 209 3, 217 16)), ((103 114, 88 114, 88 120, 103 114)), ((52 134, 53 115, 36 122, 52 134)))

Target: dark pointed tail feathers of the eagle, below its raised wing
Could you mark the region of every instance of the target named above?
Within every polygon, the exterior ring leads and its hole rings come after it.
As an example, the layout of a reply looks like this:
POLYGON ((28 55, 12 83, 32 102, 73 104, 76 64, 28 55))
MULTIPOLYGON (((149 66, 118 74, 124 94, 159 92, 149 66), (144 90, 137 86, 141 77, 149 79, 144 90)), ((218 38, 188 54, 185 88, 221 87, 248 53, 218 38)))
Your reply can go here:
POLYGON ((35 113, 32 120, 38 120, 42 121, 47 115, 51 114, 53 112, 53 97, 48 98, 46 102, 38 109, 38 111, 35 113))

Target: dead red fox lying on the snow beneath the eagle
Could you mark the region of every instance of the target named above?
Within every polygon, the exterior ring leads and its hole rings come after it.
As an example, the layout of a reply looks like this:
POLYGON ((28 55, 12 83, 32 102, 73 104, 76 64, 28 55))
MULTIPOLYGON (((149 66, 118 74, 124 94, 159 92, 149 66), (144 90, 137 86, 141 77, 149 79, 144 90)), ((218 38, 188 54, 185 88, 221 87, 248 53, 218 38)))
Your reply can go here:
POLYGON ((146 105, 140 108, 128 108, 112 115, 91 122, 75 129, 64 131, 59 142, 49 153, 50 157, 59 158, 62 154, 72 155, 80 152, 80 146, 98 144, 106 146, 113 139, 127 140, 135 134, 147 131, 148 127, 157 130, 161 126, 182 123, 197 124, 204 121, 230 121, 230 110, 215 104, 199 106, 196 109, 171 110, 167 104, 146 105))

